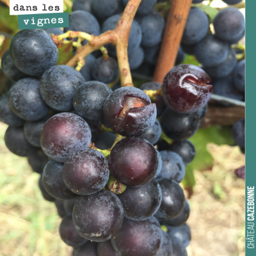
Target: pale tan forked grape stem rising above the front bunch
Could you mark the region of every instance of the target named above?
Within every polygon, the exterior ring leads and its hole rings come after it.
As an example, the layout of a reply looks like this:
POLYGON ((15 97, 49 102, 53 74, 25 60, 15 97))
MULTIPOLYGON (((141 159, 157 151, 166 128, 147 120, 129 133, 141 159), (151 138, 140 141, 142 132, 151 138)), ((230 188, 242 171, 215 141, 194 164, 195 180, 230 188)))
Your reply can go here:
MULTIPOLYGON (((129 0, 127 6, 125 7, 124 13, 120 18, 116 28, 113 31, 106 31, 102 35, 93 36, 84 35, 86 33, 83 32, 70 32, 70 35, 76 35, 72 33, 83 33, 80 35, 86 36, 86 40, 88 40, 88 44, 84 45, 77 51, 76 55, 68 61, 66 65, 70 67, 74 67, 77 65, 77 61, 81 60, 81 58, 85 58, 88 54, 92 53, 96 50, 103 50, 102 47, 106 44, 116 45, 116 54, 118 58, 118 66, 120 70, 120 80, 122 86, 133 86, 132 84, 132 76, 131 70, 129 67, 128 61, 128 39, 129 33, 132 26, 132 20, 137 12, 138 6, 140 5, 141 0, 129 0)), ((66 33, 65 33, 66 34, 66 33)), ((60 35, 60 38, 66 38, 67 35, 60 35), (65 37, 66 36, 66 37, 65 37)), ((106 48, 104 48, 105 51, 106 48)))

